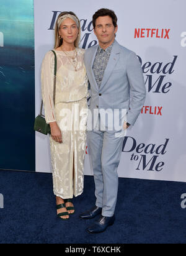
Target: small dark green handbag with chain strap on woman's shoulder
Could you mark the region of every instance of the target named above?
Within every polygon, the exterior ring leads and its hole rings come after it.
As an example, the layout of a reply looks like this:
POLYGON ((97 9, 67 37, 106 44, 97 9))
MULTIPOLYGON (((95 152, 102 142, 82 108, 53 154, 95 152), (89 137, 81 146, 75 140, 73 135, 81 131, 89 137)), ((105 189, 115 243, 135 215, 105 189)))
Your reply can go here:
MULTIPOLYGON (((57 71, 57 57, 55 51, 51 51, 55 55, 55 70, 54 70, 54 80, 53 80, 53 104, 55 105, 55 98, 56 98, 56 71, 57 71)), ((33 130, 36 132, 40 132, 42 134, 50 134, 50 124, 47 124, 45 120, 45 116, 42 114, 43 110, 43 100, 40 108, 40 114, 35 118, 33 130)))

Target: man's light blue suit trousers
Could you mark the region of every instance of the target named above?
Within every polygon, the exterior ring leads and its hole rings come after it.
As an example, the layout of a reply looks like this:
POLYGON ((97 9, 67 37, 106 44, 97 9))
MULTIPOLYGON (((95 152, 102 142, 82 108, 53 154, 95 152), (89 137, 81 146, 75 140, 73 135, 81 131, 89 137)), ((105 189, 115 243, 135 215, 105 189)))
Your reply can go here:
POLYGON ((102 215, 112 217, 118 194, 118 165, 122 155, 124 137, 116 137, 114 131, 90 130, 87 144, 91 167, 94 171, 95 197, 102 215))

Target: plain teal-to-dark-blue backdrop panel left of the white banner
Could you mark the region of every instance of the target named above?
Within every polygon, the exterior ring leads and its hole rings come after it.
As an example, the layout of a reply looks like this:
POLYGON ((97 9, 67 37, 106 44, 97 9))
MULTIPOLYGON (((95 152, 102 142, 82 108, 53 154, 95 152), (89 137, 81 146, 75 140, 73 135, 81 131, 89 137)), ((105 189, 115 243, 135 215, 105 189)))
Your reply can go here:
POLYGON ((33 0, 1 0, 0 168, 35 171, 33 0))

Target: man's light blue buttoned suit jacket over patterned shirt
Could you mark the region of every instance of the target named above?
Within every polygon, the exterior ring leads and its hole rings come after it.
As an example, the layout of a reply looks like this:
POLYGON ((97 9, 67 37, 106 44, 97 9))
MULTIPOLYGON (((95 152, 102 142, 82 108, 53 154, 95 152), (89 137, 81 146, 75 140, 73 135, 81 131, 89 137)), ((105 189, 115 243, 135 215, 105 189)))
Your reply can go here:
POLYGON ((92 126, 94 129, 100 109, 105 111, 120 109, 118 118, 123 120, 121 109, 126 109, 126 121, 134 125, 146 98, 143 71, 138 57, 115 40, 102 84, 99 87, 92 69, 97 49, 98 45, 89 48, 84 55, 91 96, 89 101, 91 114, 89 113, 88 122, 94 124, 92 126))

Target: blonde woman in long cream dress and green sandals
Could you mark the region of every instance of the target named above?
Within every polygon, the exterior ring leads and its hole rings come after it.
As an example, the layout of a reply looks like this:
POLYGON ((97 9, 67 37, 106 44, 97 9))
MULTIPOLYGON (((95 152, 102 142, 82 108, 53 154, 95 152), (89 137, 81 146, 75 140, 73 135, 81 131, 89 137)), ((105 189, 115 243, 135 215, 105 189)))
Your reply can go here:
POLYGON ((42 63, 42 96, 45 119, 51 127, 50 149, 53 191, 57 214, 69 219, 71 199, 79 196, 84 183, 88 81, 84 50, 78 48, 81 27, 73 12, 62 12, 55 25, 57 57, 56 97, 53 103, 55 55, 47 52, 42 63))

